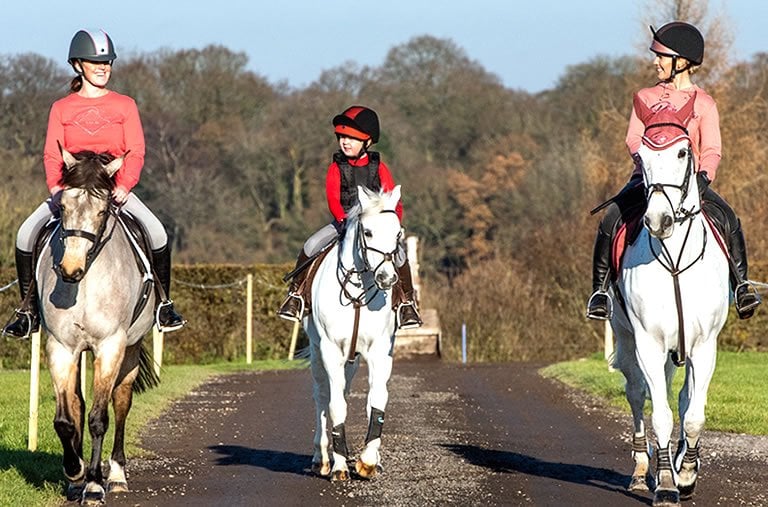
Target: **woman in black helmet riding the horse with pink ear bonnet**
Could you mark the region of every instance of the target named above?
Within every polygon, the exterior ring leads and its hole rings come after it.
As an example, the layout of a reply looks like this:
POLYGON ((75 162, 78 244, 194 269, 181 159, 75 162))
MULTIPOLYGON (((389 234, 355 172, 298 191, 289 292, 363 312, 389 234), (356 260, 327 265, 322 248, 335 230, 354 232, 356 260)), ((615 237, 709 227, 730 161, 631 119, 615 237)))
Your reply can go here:
MULTIPOLYGON (((696 161, 696 179, 701 191, 702 209, 722 233, 733 260, 731 283, 739 317, 748 319, 760 304, 760 296, 748 282, 747 250, 741 224, 733 209, 714 190, 720 164, 720 117, 712 97, 691 81, 691 75, 704 59, 704 38, 696 27, 675 21, 653 30, 650 50, 655 54, 654 65, 659 82, 637 92, 637 97, 654 111, 670 108, 675 111, 689 100, 693 117, 688 123, 688 135, 696 161)), ((645 125, 632 109, 627 129, 627 148, 635 161, 629 183, 612 199, 595 239, 592 267, 593 293, 587 303, 587 317, 606 320, 611 317, 611 301, 607 293, 611 271, 611 243, 619 226, 645 207, 642 167, 637 150, 642 143, 645 125)))

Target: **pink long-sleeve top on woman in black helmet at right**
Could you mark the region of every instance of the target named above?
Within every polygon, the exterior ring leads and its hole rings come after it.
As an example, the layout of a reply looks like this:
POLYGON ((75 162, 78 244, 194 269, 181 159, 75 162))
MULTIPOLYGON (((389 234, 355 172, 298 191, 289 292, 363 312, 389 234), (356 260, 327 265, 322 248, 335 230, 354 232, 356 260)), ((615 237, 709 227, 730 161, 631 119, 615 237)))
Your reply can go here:
MULTIPOLYGON (((677 111, 693 97, 694 93, 696 102, 693 105, 693 118, 688 123, 688 135, 691 138, 697 171, 706 172, 709 180, 714 181, 722 156, 720 115, 717 112, 715 100, 696 85, 686 90, 676 90, 668 84, 659 83, 651 88, 643 88, 637 94, 654 111, 665 107, 671 107, 677 111)), ((645 125, 632 108, 626 139, 630 155, 637 153, 643 142, 644 133, 645 125)), ((640 168, 635 167, 633 174, 640 174, 640 168)))

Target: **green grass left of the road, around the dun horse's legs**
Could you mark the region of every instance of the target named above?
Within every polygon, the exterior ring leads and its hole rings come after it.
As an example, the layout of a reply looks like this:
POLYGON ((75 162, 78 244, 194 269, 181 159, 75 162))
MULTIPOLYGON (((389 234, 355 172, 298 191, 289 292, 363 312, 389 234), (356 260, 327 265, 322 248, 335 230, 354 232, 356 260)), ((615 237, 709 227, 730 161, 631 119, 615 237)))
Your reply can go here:
MULTIPOLYGON (((164 367, 159 387, 134 396, 126 427, 128 459, 147 453, 137 447, 141 429, 151 419, 158 417, 173 400, 183 397, 211 376, 238 371, 302 367, 306 367, 305 361, 164 367)), ((89 394, 86 392, 87 398, 89 394)), ((24 499, 24 505, 52 506, 64 500, 66 483, 61 468, 61 442, 53 429, 55 408, 50 375, 46 368, 41 367, 38 446, 36 451, 28 451, 29 371, 0 371, 0 505, 19 505, 19 499, 24 499)), ((113 428, 114 414, 110 411, 110 431, 105 437, 103 459, 108 459, 111 453, 113 428)), ((87 423, 85 433, 87 461, 90 457, 87 423)))

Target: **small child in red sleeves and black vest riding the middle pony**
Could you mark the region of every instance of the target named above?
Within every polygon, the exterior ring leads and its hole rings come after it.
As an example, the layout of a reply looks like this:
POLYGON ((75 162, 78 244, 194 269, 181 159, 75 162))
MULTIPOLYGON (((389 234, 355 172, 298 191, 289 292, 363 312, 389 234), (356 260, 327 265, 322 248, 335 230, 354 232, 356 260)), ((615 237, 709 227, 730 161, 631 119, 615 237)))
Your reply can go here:
MULTIPOLYGON (((377 192, 389 192, 395 188, 392 174, 379 154, 368 151, 368 148, 379 140, 379 117, 376 112, 364 106, 351 106, 336 115, 332 123, 339 151, 334 153, 333 162, 328 166, 325 193, 333 221, 314 233, 299 253, 296 268, 304 266, 305 269, 293 278, 288 297, 277 311, 278 316, 287 320, 299 321, 303 317, 304 297, 300 289, 309 271, 307 261, 342 233, 347 212, 358 202, 357 186, 377 192)), ((402 220, 402 203, 397 204, 395 211, 402 220)), ((418 327, 421 325, 421 318, 413 297, 411 268, 402 246, 398 248, 395 264, 400 279, 398 290, 402 291, 402 301, 394 308, 398 326, 401 329, 418 327)))

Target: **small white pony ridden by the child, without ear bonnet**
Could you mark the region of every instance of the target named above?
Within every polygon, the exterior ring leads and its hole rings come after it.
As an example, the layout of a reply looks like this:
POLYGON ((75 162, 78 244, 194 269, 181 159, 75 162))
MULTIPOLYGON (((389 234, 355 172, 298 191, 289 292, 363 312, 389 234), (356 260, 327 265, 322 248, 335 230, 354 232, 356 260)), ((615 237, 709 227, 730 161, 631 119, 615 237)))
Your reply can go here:
POLYGON ((360 205, 350 211, 346 234, 320 264, 312 283, 312 313, 304 320, 310 338, 316 428, 312 470, 332 481, 348 480, 344 424, 346 394, 359 365, 368 365, 368 433, 355 469, 364 478, 380 467, 379 448, 392 373, 397 282, 395 253, 402 229, 395 213, 400 186, 373 194, 358 187, 360 205), (329 419, 333 460, 328 450, 329 419), (331 468, 332 467, 332 468, 331 468))

